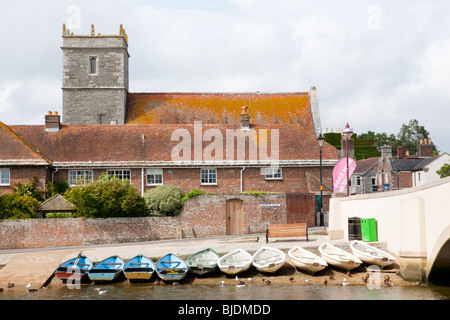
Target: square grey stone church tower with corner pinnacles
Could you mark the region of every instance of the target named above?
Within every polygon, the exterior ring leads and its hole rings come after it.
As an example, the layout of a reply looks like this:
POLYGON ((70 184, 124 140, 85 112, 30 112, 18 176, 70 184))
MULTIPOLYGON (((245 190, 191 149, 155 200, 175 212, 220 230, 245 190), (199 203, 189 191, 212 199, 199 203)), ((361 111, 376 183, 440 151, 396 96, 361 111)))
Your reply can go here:
POLYGON ((128 37, 78 36, 63 25, 63 123, 124 124, 128 94, 128 37))

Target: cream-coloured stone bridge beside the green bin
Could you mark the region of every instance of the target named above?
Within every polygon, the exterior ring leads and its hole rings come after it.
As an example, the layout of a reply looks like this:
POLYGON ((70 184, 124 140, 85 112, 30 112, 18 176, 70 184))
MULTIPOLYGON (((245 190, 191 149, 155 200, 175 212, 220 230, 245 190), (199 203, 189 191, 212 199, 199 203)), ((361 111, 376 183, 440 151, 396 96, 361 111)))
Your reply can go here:
POLYGON ((348 239, 348 218, 374 218, 379 242, 405 279, 450 285, 450 177, 416 188, 330 200, 329 235, 348 239))

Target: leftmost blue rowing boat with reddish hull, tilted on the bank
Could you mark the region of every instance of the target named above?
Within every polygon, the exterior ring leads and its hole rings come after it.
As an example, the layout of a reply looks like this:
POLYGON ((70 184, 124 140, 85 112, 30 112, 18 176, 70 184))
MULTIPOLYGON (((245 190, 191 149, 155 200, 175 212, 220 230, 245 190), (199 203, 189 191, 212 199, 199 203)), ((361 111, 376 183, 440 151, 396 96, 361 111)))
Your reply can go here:
POLYGON ((56 269, 56 276, 63 282, 84 281, 88 278, 88 272, 93 263, 82 254, 82 251, 75 258, 69 259, 59 265, 56 269))

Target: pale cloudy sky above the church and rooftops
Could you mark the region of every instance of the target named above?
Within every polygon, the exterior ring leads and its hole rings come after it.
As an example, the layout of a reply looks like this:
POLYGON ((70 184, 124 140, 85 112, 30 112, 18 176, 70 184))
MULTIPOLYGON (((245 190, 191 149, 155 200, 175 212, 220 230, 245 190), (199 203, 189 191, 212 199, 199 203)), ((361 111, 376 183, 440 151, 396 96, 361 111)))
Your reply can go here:
POLYGON ((0 121, 62 113, 62 25, 129 39, 130 92, 316 86, 322 127, 397 134, 417 119, 450 152, 448 0, 0 1, 0 121))

